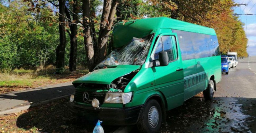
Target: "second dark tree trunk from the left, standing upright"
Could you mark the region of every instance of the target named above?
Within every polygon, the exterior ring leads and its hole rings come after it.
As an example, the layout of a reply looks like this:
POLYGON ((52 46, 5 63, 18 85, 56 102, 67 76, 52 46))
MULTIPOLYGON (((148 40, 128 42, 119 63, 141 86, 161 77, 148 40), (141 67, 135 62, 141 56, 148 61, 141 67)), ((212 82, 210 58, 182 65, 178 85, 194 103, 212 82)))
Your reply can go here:
MULTIPOLYGON (((66 10, 66 12, 69 14, 69 12, 66 10)), ((66 14, 67 14, 66 13, 66 14)), ((74 0, 74 4, 73 4, 73 20, 77 20, 77 0, 74 0)), ((70 15, 69 17, 70 18, 70 15)), ((71 18, 70 18, 71 20, 71 18)), ((69 20, 69 21, 70 21, 69 20)), ((74 23, 77 24, 77 21, 75 21, 74 23)), ((77 56, 77 38, 76 38, 76 34, 77 34, 77 25, 76 24, 71 24, 70 26, 70 55, 69 55, 69 71, 76 71, 76 56, 77 56)))

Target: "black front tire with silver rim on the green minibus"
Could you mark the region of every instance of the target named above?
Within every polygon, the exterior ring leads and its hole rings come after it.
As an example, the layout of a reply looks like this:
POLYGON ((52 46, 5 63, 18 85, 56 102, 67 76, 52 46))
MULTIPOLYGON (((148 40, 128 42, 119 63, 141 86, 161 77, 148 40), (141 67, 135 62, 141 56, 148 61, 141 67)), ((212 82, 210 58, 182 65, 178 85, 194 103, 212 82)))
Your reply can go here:
POLYGON ((162 110, 159 103, 152 99, 145 103, 139 116, 137 127, 142 133, 156 133, 162 123, 162 110), (153 115, 152 123, 150 124, 150 116, 153 115), (158 119, 157 119, 158 117, 158 119))

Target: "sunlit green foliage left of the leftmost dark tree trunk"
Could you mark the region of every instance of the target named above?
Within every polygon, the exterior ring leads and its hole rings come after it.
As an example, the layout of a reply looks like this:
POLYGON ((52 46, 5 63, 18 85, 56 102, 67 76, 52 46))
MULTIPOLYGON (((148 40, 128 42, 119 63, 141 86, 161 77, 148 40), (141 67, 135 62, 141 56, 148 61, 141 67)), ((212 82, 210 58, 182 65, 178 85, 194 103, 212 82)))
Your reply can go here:
POLYGON ((55 56, 53 47, 58 42, 58 24, 49 26, 50 22, 40 20, 52 13, 44 10, 36 14, 27 10, 25 3, 17 0, 9 2, 9 7, 1 11, 0 21, 5 20, 5 31, 0 38, 0 69, 39 66, 44 59, 48 61, 50 55, 55 56))

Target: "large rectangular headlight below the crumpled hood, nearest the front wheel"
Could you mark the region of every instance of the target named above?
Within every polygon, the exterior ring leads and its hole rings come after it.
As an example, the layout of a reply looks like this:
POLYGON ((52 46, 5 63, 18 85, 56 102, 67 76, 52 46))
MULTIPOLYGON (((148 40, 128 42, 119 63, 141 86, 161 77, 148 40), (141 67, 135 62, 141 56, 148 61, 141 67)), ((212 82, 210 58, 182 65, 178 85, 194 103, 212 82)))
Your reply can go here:
POLYGON ((131 101, 132 92, 129 93, 115 93, 109 92, 106 93, 104 103, 129 103, 131 101))

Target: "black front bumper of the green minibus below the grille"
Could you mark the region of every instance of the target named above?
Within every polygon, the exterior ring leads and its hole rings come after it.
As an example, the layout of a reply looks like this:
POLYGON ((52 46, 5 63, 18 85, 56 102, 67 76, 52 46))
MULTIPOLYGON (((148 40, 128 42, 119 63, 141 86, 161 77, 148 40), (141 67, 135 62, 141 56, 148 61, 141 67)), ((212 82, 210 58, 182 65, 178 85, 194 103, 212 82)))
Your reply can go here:
POLYGON ((124 108, 88 107, 69 102, 72 113, 85 117, 86 120, 97 123, 103 121, 105 125, 133 125, 139 118, 143 105, 124 108))

